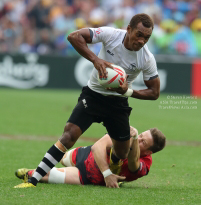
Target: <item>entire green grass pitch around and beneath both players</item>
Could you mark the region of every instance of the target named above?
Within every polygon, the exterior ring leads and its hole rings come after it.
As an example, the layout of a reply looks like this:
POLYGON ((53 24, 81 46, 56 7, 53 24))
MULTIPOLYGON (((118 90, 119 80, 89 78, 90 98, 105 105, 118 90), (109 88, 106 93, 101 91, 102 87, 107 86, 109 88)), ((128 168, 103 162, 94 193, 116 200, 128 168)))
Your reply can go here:
MULTIPOLYGON (((158 127, 168 140, 166 148, 153 155, 148 176, 120 189, 53 184, 14 189, 21 183, 15 170, 39 164, 62 134, 79 94, 73 90, 0 89, 0 204, 201 204, 201 99, 185 99, 197 109, 165 108, 170 105, 169 97, 183 95, 161 95, 157 101, 129 99, 131 125, 139 132, 158 127)), ((75 146, 90 145, 93 142, 84 137, 98 139, 104 133, 101 124, 94 124, 75 146)))

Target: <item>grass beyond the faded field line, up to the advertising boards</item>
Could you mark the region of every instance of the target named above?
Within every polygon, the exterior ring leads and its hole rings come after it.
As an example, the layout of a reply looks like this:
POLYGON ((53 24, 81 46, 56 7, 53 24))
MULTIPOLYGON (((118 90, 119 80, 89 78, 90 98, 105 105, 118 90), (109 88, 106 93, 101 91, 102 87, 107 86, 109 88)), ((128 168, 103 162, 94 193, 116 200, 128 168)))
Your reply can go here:
MULTIPOLYGON (((0 132, 9 135, 60 136, 79 94, 80 91, 75 90, 0 89, 0 132)), ((197 109, 159 109, 159 106, 166 105, 161 104, 166 101, 170 105, 166 95, 161 95, 156 101, 129 99, 133 108, 130 124, 139 132, 158 127, 170 140, 201 141, 198 134, 201 99, 185 100, 189 104, 196 102, 197 109)), ((100 138, 105 132, 101 124, 95 123, 83 135, 100 138)))

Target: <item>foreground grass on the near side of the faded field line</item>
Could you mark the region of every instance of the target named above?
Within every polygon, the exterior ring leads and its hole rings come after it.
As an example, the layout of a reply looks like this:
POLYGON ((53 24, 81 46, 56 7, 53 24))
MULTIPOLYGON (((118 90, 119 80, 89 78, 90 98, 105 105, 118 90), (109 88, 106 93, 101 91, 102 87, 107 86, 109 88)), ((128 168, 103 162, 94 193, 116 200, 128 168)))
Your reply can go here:
MULTIPOLYGON (((120 189, 59 184, 14 189, 13 186, 21 183, 14 171, 36 167, 52 143, 1 140, 1 204, 200 204, 200 147, 167 146, 160 154, 153 155, 148 176, 120 189)), ((89 144, 78 142, 77 146, 89 144)))

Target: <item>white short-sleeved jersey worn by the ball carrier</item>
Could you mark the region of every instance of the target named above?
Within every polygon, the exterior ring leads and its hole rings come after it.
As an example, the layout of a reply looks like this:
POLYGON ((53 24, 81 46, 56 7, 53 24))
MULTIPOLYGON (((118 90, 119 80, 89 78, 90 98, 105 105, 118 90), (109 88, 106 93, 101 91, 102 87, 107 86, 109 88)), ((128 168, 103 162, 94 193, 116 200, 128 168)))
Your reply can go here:
MULTIPOLYGON (((158 75, 156 60, 147 45, 144 45, 139 51, 130 51, 124 47, 126 30, 110 27, 89 29, 93 32, 92 43, 102 42, 102 48, 98 57, 124 68, 126 74, 129 76, 128 85, 130 88, 141 71, 145 81, 158 75)), ((103 88, 98 82, 97 75, 98 71, 93 68, 88 81, 90 89, 103 95, 120 95, 103 88)))

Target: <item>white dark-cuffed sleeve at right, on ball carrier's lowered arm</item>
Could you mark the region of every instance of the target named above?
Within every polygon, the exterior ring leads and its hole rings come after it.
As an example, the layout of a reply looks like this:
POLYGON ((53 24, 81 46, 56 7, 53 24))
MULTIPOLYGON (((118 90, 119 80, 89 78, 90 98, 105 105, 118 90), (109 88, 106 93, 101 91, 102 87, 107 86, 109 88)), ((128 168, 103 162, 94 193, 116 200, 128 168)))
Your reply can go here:
POLYGON ((143 79, 145 81, 151 80, 154 77, 158 76, 156 60, 154 56, 152 56, 145 64, 143 69, 143 79))

